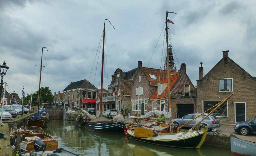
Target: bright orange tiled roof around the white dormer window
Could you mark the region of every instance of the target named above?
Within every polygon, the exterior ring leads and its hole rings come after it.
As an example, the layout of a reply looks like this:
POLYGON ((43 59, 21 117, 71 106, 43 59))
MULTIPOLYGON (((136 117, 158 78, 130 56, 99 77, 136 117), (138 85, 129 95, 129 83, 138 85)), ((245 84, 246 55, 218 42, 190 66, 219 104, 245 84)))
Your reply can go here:
MULTIPOLYGON (((180 76, 180 73, 170 75, 170 88, 172 88, 172 86, 178 80, 179 76, 180 76)), ((159 83, 168 83, 167 76, 162 78, 159 83)), ((158 93, 158 88, 157 88, 149 99, 165 98, 167 92, 168 92, 168 86, 165 88, 165 90, 161 95, 157 95, 158 93)))

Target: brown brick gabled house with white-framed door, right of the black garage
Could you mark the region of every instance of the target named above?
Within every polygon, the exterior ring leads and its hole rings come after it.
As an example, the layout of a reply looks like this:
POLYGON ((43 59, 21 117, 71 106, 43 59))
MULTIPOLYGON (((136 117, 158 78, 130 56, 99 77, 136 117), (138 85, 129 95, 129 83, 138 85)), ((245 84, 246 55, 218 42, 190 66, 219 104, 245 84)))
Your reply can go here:
POLYGON ((233 91, 235 94, 215 113, 222 124, 235 124, 256 115, 256 79, 229 58, 229 51, 222 52, 223 58, 205 76, 201 62, 196 108, 204 112, 233 91))

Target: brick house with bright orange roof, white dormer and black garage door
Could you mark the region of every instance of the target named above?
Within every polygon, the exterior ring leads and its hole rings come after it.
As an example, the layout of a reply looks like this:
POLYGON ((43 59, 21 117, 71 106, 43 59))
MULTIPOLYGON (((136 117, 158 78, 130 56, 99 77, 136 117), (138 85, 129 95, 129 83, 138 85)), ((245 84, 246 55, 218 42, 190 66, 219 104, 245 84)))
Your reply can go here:
MULTIPOLYGON (((195 112, 195 87, 186 74, 186 64, 180 65, 180 70, 170 74, 170 96, 172 118, 180 118, 195 112)), ((149 98, 149 110, 168 110, 168 79, 160 79, 157 88, 149 98)))

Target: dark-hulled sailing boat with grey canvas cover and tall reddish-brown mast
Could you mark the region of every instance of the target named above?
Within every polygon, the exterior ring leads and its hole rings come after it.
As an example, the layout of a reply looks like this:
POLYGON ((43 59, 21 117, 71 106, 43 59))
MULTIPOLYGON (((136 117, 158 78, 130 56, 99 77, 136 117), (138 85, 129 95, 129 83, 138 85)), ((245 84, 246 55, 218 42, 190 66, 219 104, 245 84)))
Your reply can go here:
MULTIPOLYGON (((105 19, 105 20, 108 20, 108 19, 105 19)), ((99 115, 101 115, 101 111, 103 112, 102 97, 104 97, 103 96, 103 69, 104 69, 104 47, 105 47, 104 44, 105 44, 105 22, 104 22, 104 29, 103 29, 103 48, 102 48, 101 86, 100 86, 101 96, 100 96, 99 115)), ((83 113, 85 113, 87 117, 81 114, 80 117, 76 119, 77 125, 79 125, 83 129, 87 129, 95 132, 101 132, 101 133, 120 133, 124 131, 124 128, 125 128, 124 118, 120 114, 115 116, 112 121, 112 120, 109 120, 108 118, 105 118, 99 115, 98 117, 94 117, 84 110, 83 110, 83 113)))

